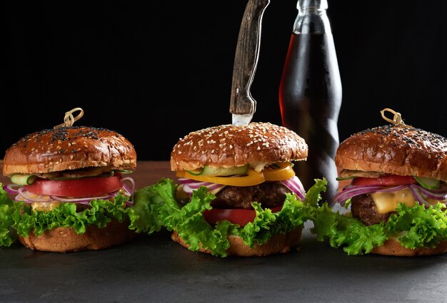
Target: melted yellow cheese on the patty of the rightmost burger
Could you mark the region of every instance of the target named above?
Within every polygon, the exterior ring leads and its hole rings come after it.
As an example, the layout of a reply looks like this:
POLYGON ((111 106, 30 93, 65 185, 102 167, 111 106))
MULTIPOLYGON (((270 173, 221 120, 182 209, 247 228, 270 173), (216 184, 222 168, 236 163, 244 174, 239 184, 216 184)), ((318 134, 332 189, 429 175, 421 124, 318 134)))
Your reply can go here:
MULTIPOLYGON (((403 190, 396 190, 396 192, 373 192, 371 197, 376 204, 377 212, 379 214, 386 214, 396 210, 398 203, 403 203, 409 207, 416 205, 413 193, 409 188, 403 190)), ((438 202, 446 202, 446 200, 433 200, 426 198, 426 201, 431 205, 436 205, 438 202)))

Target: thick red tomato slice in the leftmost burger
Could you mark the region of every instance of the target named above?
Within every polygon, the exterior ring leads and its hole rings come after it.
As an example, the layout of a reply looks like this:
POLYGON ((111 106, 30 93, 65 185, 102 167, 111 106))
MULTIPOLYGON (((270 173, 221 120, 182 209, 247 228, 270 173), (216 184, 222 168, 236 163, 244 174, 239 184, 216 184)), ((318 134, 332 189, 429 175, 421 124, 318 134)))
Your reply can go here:
POLYGON ((91 177, 68 180, 46 180, 37 178, 33 184, 24 185, 29 192, 39 195, 61 197, 95 197, 114 192, 123 187, 121 176, 91 177))

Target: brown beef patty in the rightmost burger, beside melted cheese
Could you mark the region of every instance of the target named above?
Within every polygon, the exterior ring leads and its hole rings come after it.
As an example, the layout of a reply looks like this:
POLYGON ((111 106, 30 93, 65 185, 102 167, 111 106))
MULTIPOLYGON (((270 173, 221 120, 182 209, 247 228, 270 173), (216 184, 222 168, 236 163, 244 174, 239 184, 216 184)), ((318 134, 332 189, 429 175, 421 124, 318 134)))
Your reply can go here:
POLYGON ((351 199, 351 213, 353 217, 357 217, 364 225, 378 224, 382 221, 388 221, 388 218, 394 212, 379 214, 373 198, 368 195, 356 195, 351 199))

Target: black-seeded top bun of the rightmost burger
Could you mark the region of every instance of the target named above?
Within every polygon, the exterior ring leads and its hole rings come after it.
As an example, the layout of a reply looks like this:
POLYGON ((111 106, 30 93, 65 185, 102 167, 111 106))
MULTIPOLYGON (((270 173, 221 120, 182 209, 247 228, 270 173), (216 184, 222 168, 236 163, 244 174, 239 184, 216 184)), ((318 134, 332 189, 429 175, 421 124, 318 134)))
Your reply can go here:
POLYGON ((409 126, 384 125, 363 130, 344 140, 336 152, 336 166, 416 175, 447 180, 447 138, 409 126))

